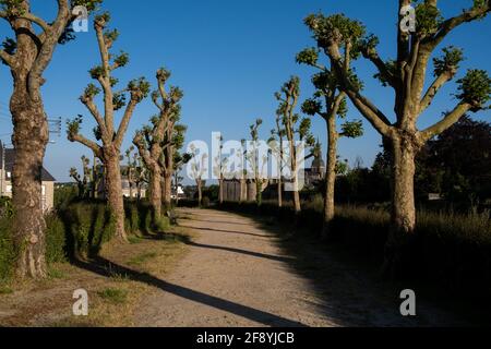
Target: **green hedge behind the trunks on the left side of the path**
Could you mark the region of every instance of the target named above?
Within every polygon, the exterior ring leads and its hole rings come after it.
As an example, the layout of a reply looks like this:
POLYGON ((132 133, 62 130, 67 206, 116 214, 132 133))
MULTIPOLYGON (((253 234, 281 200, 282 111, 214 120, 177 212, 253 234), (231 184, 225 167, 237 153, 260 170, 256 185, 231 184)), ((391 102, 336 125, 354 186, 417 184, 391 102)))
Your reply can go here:
MULTIPOLYGON (((127 232, 147 234, 164 232, 167 218, 152 224, 152 207, 145 202, 124 203, 127 232)), ((0 281, 12 274, 14 249, 11 218, 0 219, 0 281)), ((48 263, 91 257, 115 234, 115 220, 104 202, 72 202, 46 217, 46 257, 48 263)))

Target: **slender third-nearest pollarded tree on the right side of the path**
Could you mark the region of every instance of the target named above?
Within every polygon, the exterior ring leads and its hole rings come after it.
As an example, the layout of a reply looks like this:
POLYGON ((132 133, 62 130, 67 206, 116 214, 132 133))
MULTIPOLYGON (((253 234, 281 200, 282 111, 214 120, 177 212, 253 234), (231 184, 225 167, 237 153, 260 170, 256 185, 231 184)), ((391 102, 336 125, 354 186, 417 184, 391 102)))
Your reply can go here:
POLYGON ((300 116, 296 112, 300 97, 300 79, 292 76, 275 96, 279 101, 277 115, 282 116, 282 123, 288 140, 288 167, 291 173, 290 181, 294 193, 294 207, 295 212, 299 213, 301 210, 301 204, 298 171, 301 165, 299 161, 304 161, 304 158, 300 157, 300 153, 304 151, 306 144, 307 146, 313 146, 315 140, 310 133, 311 120, 307 118, 300 119, 300 116), (297 144, 297 135, 300 141, 299 144, 297 144))

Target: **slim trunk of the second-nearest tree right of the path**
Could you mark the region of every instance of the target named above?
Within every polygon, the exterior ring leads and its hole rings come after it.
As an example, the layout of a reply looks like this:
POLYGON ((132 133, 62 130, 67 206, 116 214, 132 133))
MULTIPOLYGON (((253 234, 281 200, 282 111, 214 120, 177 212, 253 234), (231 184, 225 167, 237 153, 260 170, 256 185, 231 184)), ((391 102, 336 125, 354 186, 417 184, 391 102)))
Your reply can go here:
POLYGON ((330 226, 335 215, 334 190, 336 184, 336 163, 337 163, 337 134, 336 120, 327 120, 327 169, 325 172, 325 193, 324 193, 324 220, 322 228, 322 238, 326 239, 330 233, 330 226))

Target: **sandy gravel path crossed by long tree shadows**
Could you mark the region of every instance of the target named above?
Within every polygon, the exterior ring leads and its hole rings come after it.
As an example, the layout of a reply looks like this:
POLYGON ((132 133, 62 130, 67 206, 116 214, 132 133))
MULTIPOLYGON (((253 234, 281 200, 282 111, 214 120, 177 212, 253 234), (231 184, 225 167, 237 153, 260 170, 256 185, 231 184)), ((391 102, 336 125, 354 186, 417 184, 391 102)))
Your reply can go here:
POLYGON ((137 326, 460 324, 423 302, 416 318, 403 317, 398 294, 315 245, 309 258, 322 267, 299 268, 301 261, 285 254, 279 238, 250 218, 197 209, 180 209, 179 217, 197 238, 160 289, 140 304, 137 326))

